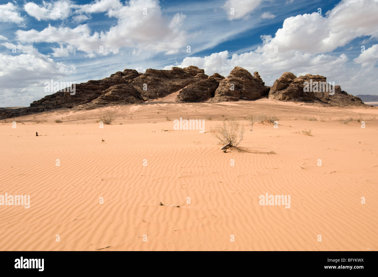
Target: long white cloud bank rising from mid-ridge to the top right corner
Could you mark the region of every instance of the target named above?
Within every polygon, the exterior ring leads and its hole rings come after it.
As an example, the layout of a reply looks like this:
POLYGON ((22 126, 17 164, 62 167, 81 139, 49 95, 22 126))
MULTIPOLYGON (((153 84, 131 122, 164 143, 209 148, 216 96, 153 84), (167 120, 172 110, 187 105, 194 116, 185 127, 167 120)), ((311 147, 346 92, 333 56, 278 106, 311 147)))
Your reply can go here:
POLYGON ((364 70, 377 62, 378 48, 374 45, 354 60, 362 68, 348 64, 346 54, 329 54, 339 46, 344 46, 356 37, 377 37, 378 18, 373 16, 377 1, 342 1, 326 17, 317 13, 289 17, 283 22, 275 36, 261 36, 262 45, 256 50, 230 55, 228 51, 213 53, 206 57, 186 57, 177 65, 195 65, 204 68, 208 75, 218 72, 227 76, 235 66, 249 72, 259 71, 267 85, 272 85, 284 71, 297 76, 307 73, 320 74, 340 85, 345 90, 362 93, 361 88, 373 89, 377 83, 376 71, 364 70), (368 17, 367 20, 363 20, 368 17), (355 20, 354 20, 355 19, 355 20), (335 71, 335 68, 338 70, 335 71), (366 80, 372 80, 369 84, 366 80))

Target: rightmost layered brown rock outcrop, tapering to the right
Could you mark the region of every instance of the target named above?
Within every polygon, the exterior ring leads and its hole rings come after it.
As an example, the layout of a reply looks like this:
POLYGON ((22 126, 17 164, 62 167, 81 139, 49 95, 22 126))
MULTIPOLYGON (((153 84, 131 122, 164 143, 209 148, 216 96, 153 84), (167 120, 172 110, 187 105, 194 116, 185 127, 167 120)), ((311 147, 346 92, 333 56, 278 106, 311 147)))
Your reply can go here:
POLYGON ((327 78, 321 75, 306 74, 295 76, 284 72, 270 88, 269 99, 279 101, 307 101, 337 106, 364 105, 359 97, 342 91, 340 86, 328 85, 327 78), (335 94, 332 94, 332 93, 335 94), (331 94, 330 94, 331 93, 331 94))

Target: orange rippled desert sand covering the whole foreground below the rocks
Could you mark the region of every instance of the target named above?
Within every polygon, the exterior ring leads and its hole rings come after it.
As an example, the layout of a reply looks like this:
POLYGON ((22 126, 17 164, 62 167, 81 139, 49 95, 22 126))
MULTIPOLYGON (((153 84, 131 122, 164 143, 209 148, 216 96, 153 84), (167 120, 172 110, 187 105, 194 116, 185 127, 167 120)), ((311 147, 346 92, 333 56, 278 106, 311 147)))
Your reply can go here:
POLYGON ((31 203, 0 206, 0 250, 378 249, 377 108, 155 102, 11 121, 0 123, 0 194, 29 194, 31 203), (117 118, 101 129, 95 121, 107 110, 117 118), (247 113, 276 115, 279 128, 250 133, 247 113), (205 119, 205 131, 243 120, 245 151, 223 153, 211 133, 173 130, 180 115, 205 119), (299 120, 306 116, 325 121, 299 120), (366 128, 338 121, 350 116, 366 128), (291 195, 290 209, 260 206, 266 192, 291 195))

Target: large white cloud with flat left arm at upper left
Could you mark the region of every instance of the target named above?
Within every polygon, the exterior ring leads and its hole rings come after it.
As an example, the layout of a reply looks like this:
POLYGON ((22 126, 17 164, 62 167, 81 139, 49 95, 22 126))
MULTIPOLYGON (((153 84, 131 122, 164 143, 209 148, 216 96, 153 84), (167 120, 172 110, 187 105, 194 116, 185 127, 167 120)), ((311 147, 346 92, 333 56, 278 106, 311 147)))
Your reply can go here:
POLYGON ((116 54, 123 47, 175 54, 185 45, 186 33, 180 30, 185 15, 176 14, 171 20, 167 20, 155 0, 131 0, 128 5, 121 7, 116 3, 117 1, 104 0, 80 8, 81 11, 91 12, 107 9, 108 16, 118 19, 117 25, 110 27, 107 32, 94 32, 91 35, 86 24, 76 28, 49 25, 42 31, 18 30, 17 39, 27 43, 68 44, 76 50, 84 51, 89 57, 116 54), (117 9, 110 9, 114 6, 117 9))

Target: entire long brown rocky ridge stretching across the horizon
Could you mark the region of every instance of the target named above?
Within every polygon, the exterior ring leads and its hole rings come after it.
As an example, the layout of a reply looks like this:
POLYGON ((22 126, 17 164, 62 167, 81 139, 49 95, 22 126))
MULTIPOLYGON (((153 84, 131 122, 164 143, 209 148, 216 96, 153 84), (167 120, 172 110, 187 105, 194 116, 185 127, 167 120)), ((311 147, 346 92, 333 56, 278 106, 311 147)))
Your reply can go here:
POLYGON ((293 73, 285 72, 272 87, 268 87, 257 71, 252 76, 241 67, 235 67, 226 78, 218 73, 208 76, 203 69, 195 66, 172 67, 172 70, 147 69, 146 73, 125 69, 101 80, 76 84, 73 95, 66 88, 34 101, 30 107, 0 109, 0 119, 64 107, 92 109, 107 105, 137 104, 171 93, 178 93, 175 102, 255 100, 268 96, 269 99, 279 101, 307 101, 337 106, 364 105, 359 97, 342 91, 340 86, 331 87, 334 87, 334 95, 322 89, 305 89, 305 82, 326 80, 326 77, 320 75, 296 77, 293 73))

